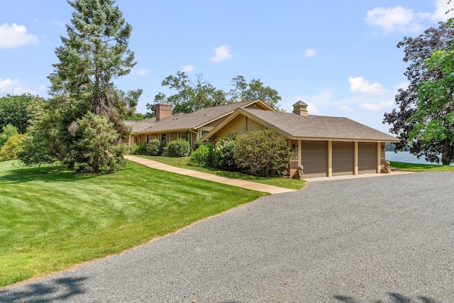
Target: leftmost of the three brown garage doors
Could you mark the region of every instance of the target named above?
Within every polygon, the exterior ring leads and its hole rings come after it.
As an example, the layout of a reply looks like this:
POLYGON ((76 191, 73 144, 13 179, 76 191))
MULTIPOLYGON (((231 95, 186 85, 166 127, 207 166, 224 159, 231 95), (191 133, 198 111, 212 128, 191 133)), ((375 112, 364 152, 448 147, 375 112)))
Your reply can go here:
POLYGON ((326 177, 328 142, 301 141, 301 162, 304 167, 304 177, 326 177))

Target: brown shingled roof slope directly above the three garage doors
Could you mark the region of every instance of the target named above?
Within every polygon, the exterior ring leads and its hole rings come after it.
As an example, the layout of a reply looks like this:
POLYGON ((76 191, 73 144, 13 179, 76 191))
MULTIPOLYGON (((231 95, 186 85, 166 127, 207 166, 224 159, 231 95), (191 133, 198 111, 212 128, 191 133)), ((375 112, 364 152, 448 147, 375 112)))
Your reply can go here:
POLYGON ((399 142, 399 139, 365 126, 348 118, 330 116, 299 116, 277 111, 260 111, 257 109, 240 109, 245 114, 265 126, 285 133, 289 138, 334 141, 380 141, 399 142))

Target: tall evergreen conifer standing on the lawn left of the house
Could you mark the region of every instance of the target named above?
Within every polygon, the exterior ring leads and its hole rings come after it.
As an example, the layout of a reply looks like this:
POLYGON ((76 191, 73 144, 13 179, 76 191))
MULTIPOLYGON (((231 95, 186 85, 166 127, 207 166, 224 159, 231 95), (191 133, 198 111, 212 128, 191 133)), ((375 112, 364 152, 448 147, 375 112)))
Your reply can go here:
MULTIPOLYGON (((55 155, 55 160, 60 160, 71 169, 90 167, 93 173, 100 170, 111 171, 118 167, 118 162, 123 161, 125 148, 118 148, 118 142, 126 141, 129 129, 121 120, 121 113, 125 112, 126 104, 135 107, 141 90, 128 93, 116 89, 114 79, 128 75, 135 66, 134 53, 128 48, 128 39, 132 27, 126 23, 118 6, 114 6, 112 0, 75 0, 67 1, 74 9, 71 24, 67 25, 67 37, 61 37, 62 45, 55 50, 59 60, 54 64, 54 72, 49 75, 50 104, 45 106, 52 109, 55 119, 55 136, 52 137, 50 154, 55 155), (127 100, 126 100, 127 99, 127 100), (94 153, 93 147, 89 150, 81 144, 87 140, 79 127, 86 124, 83 119, 89 119, 90 127, 96 128, 99 119, 92 119, 90 114, 100 116, 103 127, 112 127, 118 136, 109 136, 109 142, 99 145, 103 149, 96 151, 96 157, 114 157, 117 162, 102 159, 87 163, 87 154, 94 153), (55 150, 58 149, 58 150, 55 150), (114 153, 113 150, 116 150, 114 153), (99 156, 100 155, 100 156, 99 156), (107 163, 101 167, 99 163, 107 163), (114 167, 112 167, 114 166, 114 167)), ((49 116, 44 114, 44 117, 49 116)), ((49 119, 43 119, 47 123, 49 119)), ((35 123, 35 132, 43 131, 40 121, 35 123)), ((40 133, 33 134, 36 138, 42 138, 40 133)), ((92 136, 98 136, 93 133, 92 136)), ((96 142, 96 138, 89 138, 96 142)), ((101 138, 99 138, 101 141, 101 138)), ((105 138, 102 140, 106 140, 105 138)), ((26 146, 33 150, 42 142, 27 141, 26 146)), ((33 159, 28 164, 37 164, 40 159, 27 154, 27 148, 23 157, 33 159)), ((44 153, 46 154, 46 153, 44 153)), ((49 159, 47 159, 49 160, 49 159)))

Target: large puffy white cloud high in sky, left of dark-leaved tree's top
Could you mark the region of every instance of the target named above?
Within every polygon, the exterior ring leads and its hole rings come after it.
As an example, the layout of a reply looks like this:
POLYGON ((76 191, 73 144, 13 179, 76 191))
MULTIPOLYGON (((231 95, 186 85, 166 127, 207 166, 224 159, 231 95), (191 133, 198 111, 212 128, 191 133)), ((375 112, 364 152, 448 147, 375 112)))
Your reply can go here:
POLYGON ((366 21, 375 26, 383 28, 385 33, 392 31, 401 32, 418 32, 424 28, 421 21, 430 18, 431 13, 414 13, 412 9, 406 9, 402 6, 394 8, 376 7, 367 11, 366 21))

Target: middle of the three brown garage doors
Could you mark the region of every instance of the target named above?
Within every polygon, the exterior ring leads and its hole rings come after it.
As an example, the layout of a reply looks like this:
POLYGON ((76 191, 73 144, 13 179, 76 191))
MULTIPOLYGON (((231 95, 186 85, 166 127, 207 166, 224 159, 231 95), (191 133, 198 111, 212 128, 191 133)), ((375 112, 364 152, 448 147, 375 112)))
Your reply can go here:
POLYGON ((333 176, 353 175, 355 143, 333 142, 333 176))

